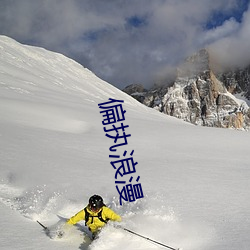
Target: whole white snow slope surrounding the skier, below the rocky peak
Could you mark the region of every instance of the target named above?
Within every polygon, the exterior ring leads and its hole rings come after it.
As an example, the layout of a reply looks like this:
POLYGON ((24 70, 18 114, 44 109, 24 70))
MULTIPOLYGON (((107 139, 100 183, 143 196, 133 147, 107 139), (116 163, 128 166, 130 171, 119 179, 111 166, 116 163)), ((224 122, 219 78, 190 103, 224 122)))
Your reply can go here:
POLYGON ((100 194, 122 225, 184 250, 250 249, 248 132, 196 127, 142 106, 63 55, 0 36, 0 249, 163 249, 108 225, 50 239, 100 194), (98 104, 124 100, 144 198, 119 205, 98 104))

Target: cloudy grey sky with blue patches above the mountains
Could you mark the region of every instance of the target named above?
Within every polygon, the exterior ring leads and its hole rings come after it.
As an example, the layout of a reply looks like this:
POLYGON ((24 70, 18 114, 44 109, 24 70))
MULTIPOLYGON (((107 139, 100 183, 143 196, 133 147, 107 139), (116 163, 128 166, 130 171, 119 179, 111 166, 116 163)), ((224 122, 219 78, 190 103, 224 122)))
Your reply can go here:
POLYGON ((250 63, 250 0, 1 0, 0 34, 69 56, 111 84, 166 81, 210 48, 250 63))

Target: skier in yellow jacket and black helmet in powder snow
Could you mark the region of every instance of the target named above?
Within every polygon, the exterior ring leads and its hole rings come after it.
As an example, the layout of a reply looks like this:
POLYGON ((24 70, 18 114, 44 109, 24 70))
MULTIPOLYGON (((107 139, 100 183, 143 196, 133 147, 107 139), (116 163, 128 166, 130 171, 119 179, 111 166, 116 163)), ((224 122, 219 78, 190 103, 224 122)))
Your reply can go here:
POLYGON ((101 196, 95 194, 89 198, 89 204, 72 216, 67 224, 74 225, 80 220, 85 220, 85 226, 88 226, 94 239, 109 220, 120 222, 122 219, 113 210, 105 206, 101 196))

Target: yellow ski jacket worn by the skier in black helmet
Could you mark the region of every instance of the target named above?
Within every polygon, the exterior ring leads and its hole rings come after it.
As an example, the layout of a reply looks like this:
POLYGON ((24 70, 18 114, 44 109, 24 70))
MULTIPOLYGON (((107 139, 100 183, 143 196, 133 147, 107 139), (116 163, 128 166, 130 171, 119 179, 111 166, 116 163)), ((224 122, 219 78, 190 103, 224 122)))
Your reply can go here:
MULTIPOLYGON (((89 219, 88 219, 88 221, 86 221, 86 225, 88 226, 89 230, 92 233, 97 232, 98 229, 102 228, 106 224, 105 222, 101 221, 98 218, 98 214, 100 213, 100 211, 102 211, 101 217, 104 221, 107 221, 107 220, 121 221, 122 220, 120 215, 116 214, 113 210, 111 210, 110 208, 108 208, 106 206, 103 206, 98 212, 93 212, 88 207, 86 209, 87 209, 87 212, 89 213, 89 219)), ((67 221, 67 224, 74 225, 77 222, 79 222, 80 220, 85 220, 84 209, 82 209, 77 214, 72 216, 67 221)))

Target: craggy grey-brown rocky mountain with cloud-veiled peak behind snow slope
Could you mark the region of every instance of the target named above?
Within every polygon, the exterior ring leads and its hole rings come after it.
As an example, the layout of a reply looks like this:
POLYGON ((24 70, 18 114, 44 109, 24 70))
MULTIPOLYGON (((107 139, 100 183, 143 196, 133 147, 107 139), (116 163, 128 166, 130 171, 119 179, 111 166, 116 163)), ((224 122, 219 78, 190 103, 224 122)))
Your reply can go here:
MULTIPOLYGON (((201 50, 189 57, 177 70, 171 87, 138 91, 140 102, 160 112, 196 125, 248 129, 250 109, 234 93, 250 95, 249 71, 220 74, 220 80, 209 65, 209 53, 201 50), (245 90, 247 89, 247 90, 245 90)), ((141 89, 142 90, 142 89, 141 89)), ((131 93, 135 96, 135 93, 131 93)))

